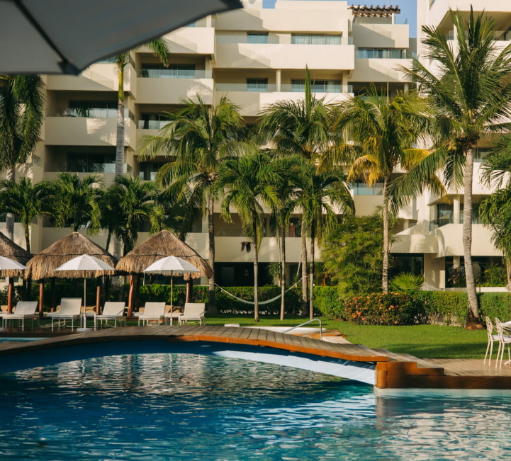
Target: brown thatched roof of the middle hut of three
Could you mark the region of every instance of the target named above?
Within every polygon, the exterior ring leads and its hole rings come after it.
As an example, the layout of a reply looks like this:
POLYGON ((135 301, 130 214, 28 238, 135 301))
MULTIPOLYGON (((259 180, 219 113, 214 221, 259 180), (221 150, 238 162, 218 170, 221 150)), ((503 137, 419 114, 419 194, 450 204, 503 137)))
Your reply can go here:
POLYGON ((101 275, 112 275, 113 271, 57 271, 55 269, 62 264, 66 263, 72 258, 88 254, 94 256, 101 261, 105 261, 110 266, 115 267, 117 259, 114 258, 108 251, 103 250, 101 246, 95 244, 94 241, 88 239, 78 232, 71 234, 56 241, 54 244, 47 247, 47 249, 34 256, 27 263, 28 271, 26 277, 31 277, 33 280, 41 280, 43 278, 58 277, 58 278, 94 278, 101 275))

